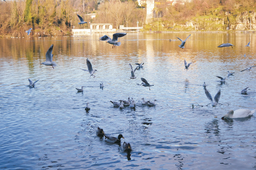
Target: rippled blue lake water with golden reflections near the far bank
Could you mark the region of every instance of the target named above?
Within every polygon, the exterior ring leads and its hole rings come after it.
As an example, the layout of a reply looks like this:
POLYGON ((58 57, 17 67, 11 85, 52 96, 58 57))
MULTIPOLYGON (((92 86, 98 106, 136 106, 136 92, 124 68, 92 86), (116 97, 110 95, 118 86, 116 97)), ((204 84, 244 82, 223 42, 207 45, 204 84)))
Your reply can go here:
POLYGON ((0 168, 256 169, 255 115, 221 120, 228 110, 256 107, 256 67, 239 72, 256 65, 256 34, 191 33, 179 48, 176 37, 189 34, 128 33, 115 48, 98 41, 104 34, 1 38, 0 168), (217 47, 228 42, 235 46, 217 47), (55 69, 40 65, 51 44, 55 69), (86 58, 96 78, 79 69, 87 69, 86 58), (193 62, 188 70, 184 59, 193 62), (130 79, 129 63, 140 62, 144 67, 130 79), (221 84, 216 75, 227 71, 235 74, 221 84), (136 85, 141 77, 154 86, 136 85), (40 79, 35 88, 28 78, 40 79), (221 89, 226 104, 206 106, 204 81, 212 96, 221 89), (128 97, 135 109, 110 103, 128 97), (156 99, 156 106, 142 105, 142 97, 156 99), (203 107, 190 107, 195 103, 203 107), (96 136, 98 126, 110 136, 123 134, 121 144, 129 142, 133 151, 96 136))

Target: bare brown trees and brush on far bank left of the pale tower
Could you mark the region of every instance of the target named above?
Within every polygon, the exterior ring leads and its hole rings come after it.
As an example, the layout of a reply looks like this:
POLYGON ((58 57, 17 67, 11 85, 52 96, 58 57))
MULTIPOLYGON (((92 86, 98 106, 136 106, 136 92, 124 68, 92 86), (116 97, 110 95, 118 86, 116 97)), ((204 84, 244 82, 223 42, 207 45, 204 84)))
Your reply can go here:
POLYGON ((23 37, 29 28, 29 36, 70 35, 74 27, 89 28, 89 22, 111 23, 116 28, 116 24, 135 26, 137 20, 146 19, 146 10, 137 8, 134 1, 1 0, 0 6, 0 36, 23 37), (96 17, 87 13, 96 13, 96 17), (76 14, 88 23, 78 25, 76 14))

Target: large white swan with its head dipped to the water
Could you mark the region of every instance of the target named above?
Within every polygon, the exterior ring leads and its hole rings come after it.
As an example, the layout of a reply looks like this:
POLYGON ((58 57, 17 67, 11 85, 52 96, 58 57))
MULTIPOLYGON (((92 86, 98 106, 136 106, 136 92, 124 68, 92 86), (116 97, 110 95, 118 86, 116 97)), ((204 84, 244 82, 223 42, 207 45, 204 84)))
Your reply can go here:
POLYGON ((249 117, 252 116, 252 114, 256 111, 254 110, 249 110, 249 109, 238 109, 238 110, 229 110, 226 115, 221 117, 222 120, 226 118, 243 118, 243 117, 249 117))

